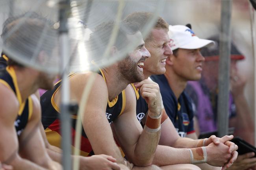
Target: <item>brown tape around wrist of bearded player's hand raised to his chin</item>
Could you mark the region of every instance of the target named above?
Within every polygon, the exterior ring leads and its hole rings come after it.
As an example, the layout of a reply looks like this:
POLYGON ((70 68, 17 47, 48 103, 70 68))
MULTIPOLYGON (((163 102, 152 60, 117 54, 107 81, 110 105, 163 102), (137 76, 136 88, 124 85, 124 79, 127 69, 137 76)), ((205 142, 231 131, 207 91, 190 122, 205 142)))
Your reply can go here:
POLYGON ((158 132, 161 129, 161 113, 157 117, 152 117, 148 112, 147 121, 144 128, 147 132, 158 132))

